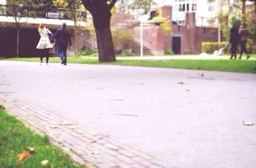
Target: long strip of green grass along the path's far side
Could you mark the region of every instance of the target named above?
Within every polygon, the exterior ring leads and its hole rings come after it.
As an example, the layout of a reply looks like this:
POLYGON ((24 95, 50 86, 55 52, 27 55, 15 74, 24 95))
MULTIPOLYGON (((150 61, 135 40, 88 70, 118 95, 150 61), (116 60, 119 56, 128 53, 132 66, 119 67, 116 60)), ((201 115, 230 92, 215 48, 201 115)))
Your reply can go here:
MULTIPOLYGON (((99 63, 97 57, 68 57, 68 63, 79 64, 108 64, 108 65, 124 65, 124 66, 149 66, 161 68, 182 68, 191 70, 213 70, 223 72, 243 72, 256 73, 256 61, 248 60, 230 60, 230 59, 171 59, 171 60, 136 60, 116 58, 114 63, 99 63)), ((9 58, 4 60, 10 61, 36 61, 38 58, 9 58)), ((50 63, 60 63, 58 57, 50 57, 50 63)))

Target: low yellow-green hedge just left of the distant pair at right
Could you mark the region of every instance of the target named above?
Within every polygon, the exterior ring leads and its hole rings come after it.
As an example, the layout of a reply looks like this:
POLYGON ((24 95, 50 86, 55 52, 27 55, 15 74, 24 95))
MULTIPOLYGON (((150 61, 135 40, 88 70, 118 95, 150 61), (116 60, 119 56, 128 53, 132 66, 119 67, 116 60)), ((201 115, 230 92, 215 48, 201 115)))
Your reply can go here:
POLYGON ((221 48, 227 47, 227 42, 202 42, 202 52, 206 52, 208 54, 212 54, 214 50, 219 50, 221 48))

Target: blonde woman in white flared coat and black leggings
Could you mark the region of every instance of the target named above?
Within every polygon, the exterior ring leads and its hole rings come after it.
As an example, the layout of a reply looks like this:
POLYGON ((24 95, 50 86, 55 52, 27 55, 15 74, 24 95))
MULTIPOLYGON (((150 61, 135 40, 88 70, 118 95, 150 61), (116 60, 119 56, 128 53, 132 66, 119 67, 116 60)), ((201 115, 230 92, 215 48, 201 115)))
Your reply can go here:
POLYGON ((45 27, 45 24, 40 24, 38 27, 38 32, 41 36, 36 49, 40 50, 40 65, 42 65, 43 57, 46 57, 46 65, 48 65, 49 61, 49 50, 53 47, 54 43, 50 42, 49 34, 51 31, 45 27))

